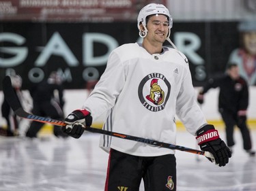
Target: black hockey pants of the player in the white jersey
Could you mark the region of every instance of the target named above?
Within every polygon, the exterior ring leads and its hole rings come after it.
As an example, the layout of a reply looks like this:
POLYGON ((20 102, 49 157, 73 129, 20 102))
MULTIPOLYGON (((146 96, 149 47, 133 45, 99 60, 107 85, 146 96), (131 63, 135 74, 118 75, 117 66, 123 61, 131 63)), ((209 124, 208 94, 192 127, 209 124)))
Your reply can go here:
POLYGON ((142 179, 145 191, 176 190, 174 154, 142 157, 111 149, 105 191, 139 191, 142 179))

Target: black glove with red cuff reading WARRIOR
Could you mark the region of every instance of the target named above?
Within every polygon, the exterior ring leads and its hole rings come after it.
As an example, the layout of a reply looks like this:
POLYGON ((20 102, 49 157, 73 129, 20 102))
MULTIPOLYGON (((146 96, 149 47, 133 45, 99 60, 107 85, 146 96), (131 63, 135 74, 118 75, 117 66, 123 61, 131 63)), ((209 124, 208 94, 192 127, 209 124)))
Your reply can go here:
MULTIPOLYGON (((201 150, 208 151, 214 156, 219 167, 224 167, 231 157, 229 147, 218 136, 218 131, 212 124, 207 124, 197 131, 197 143, 201 150)), ((208 158, 211 162, 212 160, 208 158)))

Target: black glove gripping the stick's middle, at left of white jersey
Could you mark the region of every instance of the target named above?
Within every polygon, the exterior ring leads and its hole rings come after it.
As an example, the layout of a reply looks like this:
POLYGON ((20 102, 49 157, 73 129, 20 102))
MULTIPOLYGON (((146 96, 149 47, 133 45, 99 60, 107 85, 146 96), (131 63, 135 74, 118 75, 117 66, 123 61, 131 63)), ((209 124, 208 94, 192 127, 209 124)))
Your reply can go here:
POLYGON ((77 109, 73 111, 65 119, 66 126, 62 126, 61 130, 71 137, 79 139, 85 131, 85 126, 91 126, 91 113, 86 109, 77 109))

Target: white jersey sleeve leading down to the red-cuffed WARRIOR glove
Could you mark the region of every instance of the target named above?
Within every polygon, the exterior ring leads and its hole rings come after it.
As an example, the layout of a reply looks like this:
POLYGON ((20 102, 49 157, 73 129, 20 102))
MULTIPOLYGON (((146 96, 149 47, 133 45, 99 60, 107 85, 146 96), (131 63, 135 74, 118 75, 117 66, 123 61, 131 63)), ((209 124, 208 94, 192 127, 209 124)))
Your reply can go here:
POLYGON ((199 128, 207 124, 197 103, 195 88, 193 87, 188 67, 184 74, 180 92, 177 95, 176 114, 186 127, 186 130, 192 135, 195 135, 199 128))

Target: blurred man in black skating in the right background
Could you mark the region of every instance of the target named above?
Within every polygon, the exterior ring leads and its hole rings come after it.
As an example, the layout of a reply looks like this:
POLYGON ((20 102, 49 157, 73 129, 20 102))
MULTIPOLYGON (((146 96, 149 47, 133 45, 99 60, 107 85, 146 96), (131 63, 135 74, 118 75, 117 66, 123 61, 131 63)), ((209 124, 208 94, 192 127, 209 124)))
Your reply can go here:
POLYGON ((233 139, 234 126, 237 125, 242 133, 244 150, 251 156, 255 155, 252 150, 251 136, 246 124, 246 111, 248 107, 248 85, 239 75, 239 67, 234 63, 227 65, 227 73, 221 77, 210 78, 200 90, 197 100, 203 103, 203 94, 210 88, 220 88, 218 97, 218 111, 225 122, 227 145, 231 148, 235 145, 233 139))

